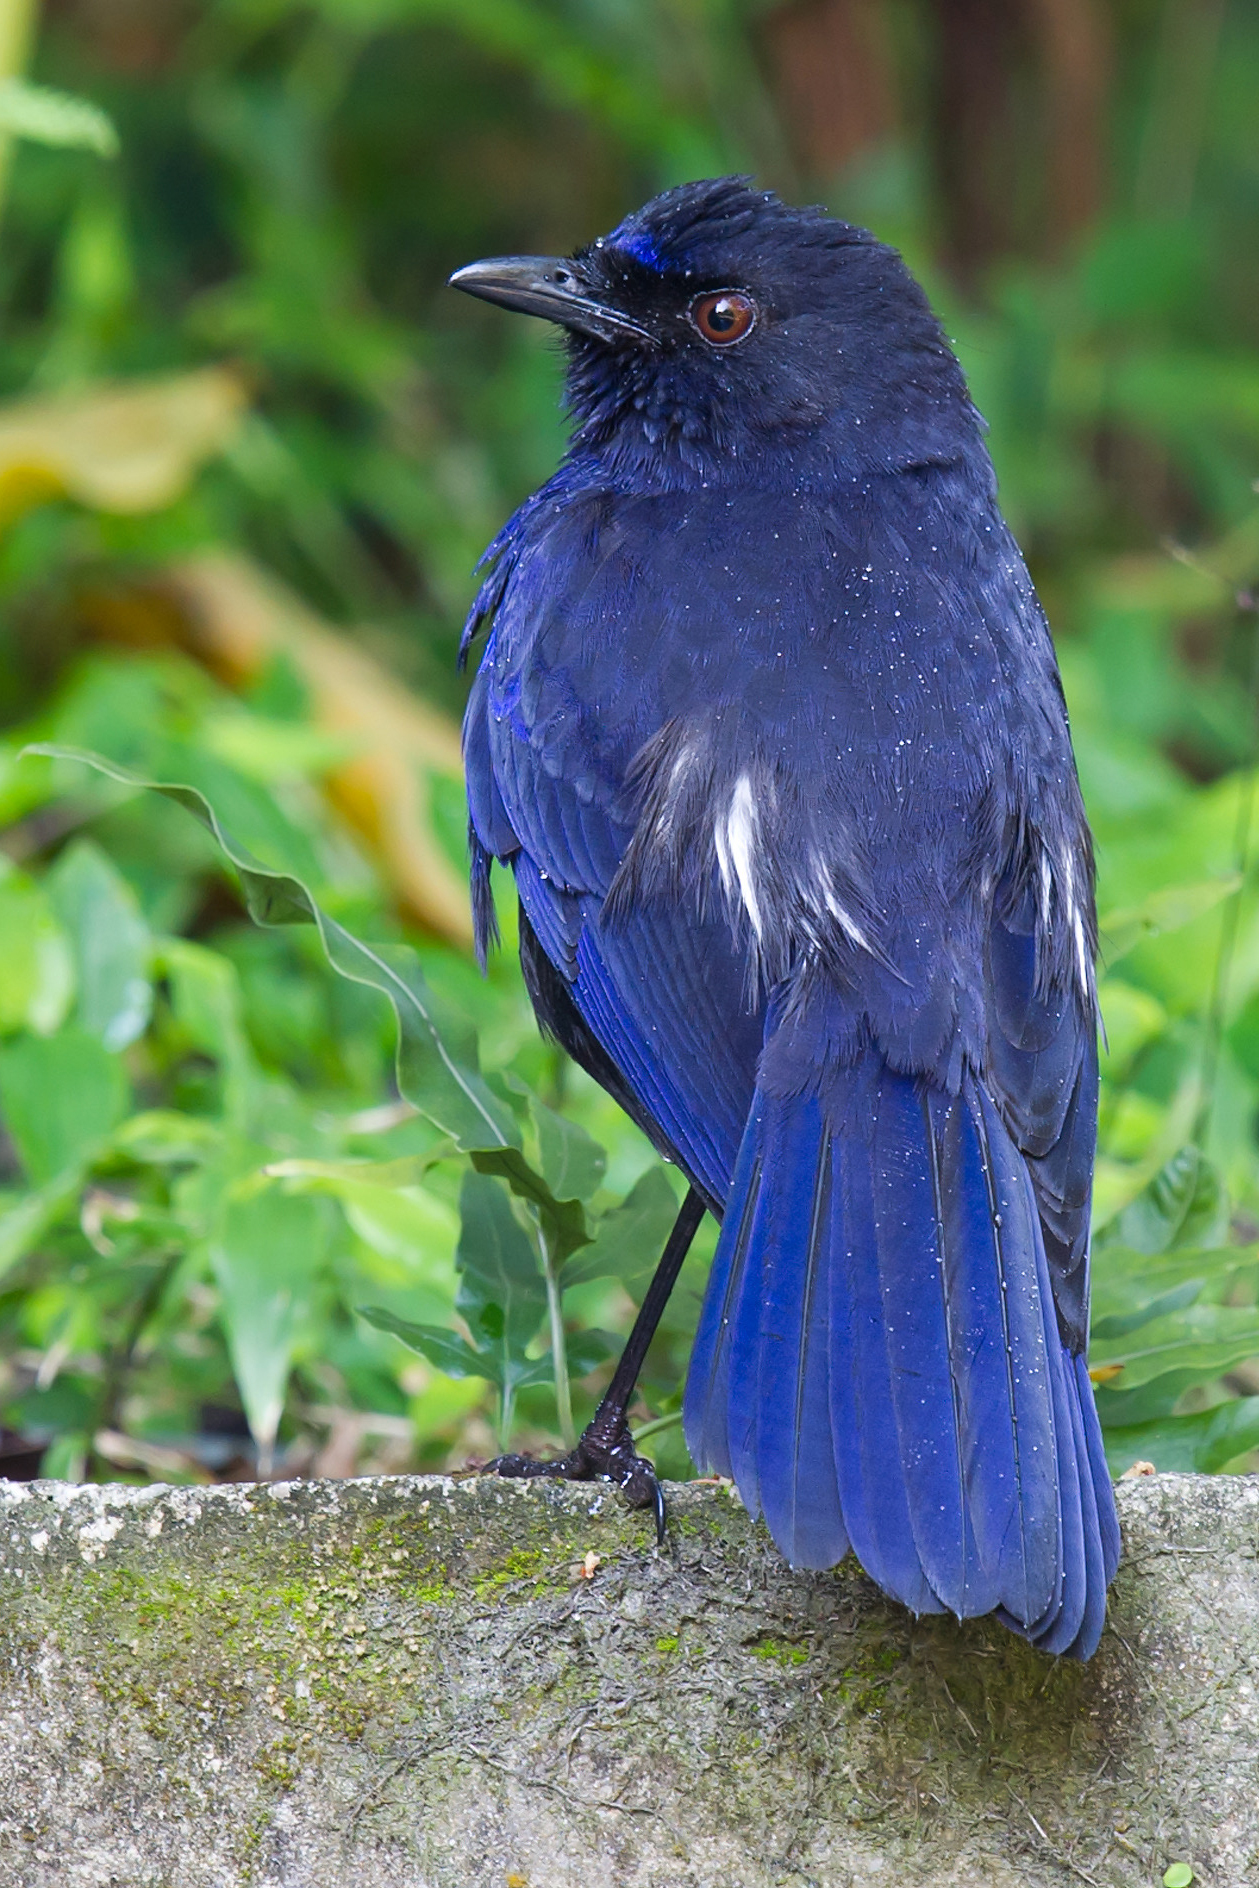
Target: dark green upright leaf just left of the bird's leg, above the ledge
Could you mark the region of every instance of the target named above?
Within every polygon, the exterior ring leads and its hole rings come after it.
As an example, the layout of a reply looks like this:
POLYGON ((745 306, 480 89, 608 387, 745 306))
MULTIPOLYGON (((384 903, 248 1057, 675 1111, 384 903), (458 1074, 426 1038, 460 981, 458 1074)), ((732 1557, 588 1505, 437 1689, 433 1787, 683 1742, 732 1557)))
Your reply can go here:
POLYGON ((496 1382, 512 1382, 525 1348, 546 1316, 546 1280, 529 1235, 512 1212, 504 1186, 489 1174, 466 1172, 459 1195, 462 1229, 459 1269, 461 1318, 478 1350, 500 1357, 496 1382))

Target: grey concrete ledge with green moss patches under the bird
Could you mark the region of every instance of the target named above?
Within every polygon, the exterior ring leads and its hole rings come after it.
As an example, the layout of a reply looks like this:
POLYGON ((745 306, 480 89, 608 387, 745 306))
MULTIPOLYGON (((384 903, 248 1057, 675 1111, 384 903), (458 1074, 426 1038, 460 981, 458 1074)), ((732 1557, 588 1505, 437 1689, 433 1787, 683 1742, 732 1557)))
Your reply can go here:
POLYGON ((712 1484, 0 1482, 0 1884, 1259 1884, 1259 1480, 1119 1493, 1080 1667, 712 1484))

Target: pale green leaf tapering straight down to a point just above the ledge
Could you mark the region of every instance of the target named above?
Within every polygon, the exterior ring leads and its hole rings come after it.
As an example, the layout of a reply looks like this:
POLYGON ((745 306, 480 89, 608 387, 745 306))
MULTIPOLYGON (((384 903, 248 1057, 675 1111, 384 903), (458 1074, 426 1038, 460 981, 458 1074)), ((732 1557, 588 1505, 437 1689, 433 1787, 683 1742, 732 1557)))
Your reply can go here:
POLYGON ((232 1371, 264 1458, 276 1442, 293 1354, 327 1248, 321 1201, 277 1186, 228 1199, 210 1240, 232 1371))

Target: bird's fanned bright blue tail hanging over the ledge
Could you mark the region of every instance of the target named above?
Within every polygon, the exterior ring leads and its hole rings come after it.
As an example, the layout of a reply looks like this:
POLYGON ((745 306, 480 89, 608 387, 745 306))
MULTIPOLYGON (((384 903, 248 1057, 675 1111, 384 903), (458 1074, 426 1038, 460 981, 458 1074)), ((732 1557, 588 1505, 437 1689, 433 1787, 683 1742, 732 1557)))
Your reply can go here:
POLYGON ((851 1544, 915 1612, 1097 1646, 1119 1529, 1093 1388, 972 1074, 946 1095, 866 1050, 829 1103, 757 1091, 685 1435, 793 1565, 851 1544))

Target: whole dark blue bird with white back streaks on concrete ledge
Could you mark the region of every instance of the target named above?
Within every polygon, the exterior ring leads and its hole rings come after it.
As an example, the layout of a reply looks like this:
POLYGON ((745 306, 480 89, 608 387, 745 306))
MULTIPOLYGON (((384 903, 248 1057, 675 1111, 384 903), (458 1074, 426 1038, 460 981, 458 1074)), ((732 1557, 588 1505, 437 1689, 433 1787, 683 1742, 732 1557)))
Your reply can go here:
POLYGON ((559 325, 570 415, 462 638, 478 948, 498 861, 544 1033, 689 1182, 587 1435, 495 1467, 651 1499, 627 1407, 712 1212, 698 1469, 795 1567, 1089 1658, 1095 867, 961 364, 893 247, 747 177, 451 283, 559 325))

